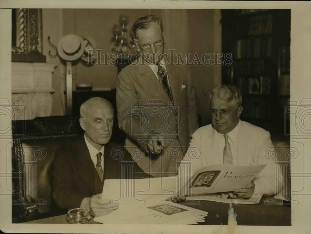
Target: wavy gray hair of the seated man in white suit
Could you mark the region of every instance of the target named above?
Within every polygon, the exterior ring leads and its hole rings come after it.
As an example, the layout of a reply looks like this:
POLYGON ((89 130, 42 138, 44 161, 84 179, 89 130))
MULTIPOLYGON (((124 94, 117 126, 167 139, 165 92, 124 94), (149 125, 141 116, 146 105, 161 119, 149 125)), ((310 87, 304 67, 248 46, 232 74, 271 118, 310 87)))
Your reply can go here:
POLYGON ((233 85, 217 85, 210 93, 210 103, 212 96, 216 96, 226 102, 235 102, 238 107, 242 105, 242 94, 239 88, 233 85))

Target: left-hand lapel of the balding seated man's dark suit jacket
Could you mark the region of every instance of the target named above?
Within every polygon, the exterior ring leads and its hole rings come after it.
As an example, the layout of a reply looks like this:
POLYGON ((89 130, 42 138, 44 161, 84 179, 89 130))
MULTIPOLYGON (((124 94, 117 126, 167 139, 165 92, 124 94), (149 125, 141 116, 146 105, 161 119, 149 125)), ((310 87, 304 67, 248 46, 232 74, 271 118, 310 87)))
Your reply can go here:
POLYGON ((78 140, 77 147, 75 148, 77 149, 77 170, 92 194, 96 194, 94 163, 92 162, 90 152, 87 149, 84 135, 78 140))

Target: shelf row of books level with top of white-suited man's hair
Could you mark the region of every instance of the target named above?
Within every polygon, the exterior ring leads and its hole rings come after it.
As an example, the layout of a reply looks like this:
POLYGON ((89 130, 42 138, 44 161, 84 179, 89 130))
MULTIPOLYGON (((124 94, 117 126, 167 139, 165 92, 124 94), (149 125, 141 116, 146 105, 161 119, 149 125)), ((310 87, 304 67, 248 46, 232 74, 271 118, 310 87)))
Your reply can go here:
POLYGON ((259 78, 238 77, 236 85, 242 94, 271 94, 271 78, 260 76, 259 78))

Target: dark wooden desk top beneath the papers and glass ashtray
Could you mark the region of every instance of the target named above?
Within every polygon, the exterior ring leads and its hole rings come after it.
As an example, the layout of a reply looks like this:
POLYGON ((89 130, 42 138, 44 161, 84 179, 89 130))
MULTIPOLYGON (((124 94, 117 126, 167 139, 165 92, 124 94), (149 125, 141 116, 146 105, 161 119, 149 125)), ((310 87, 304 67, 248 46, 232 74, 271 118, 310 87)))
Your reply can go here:
MULTIPOLYGON (((258 204, 232 204, 234 212, 237 214, 238 225, 265 225, 265 226, 290 226, 291 207, 290 205, 265 204, 265 200, 272 197, 264 196, 258 204)), ((275 200, 275 203, 280 200, 275 200)), ((198 201, 200 202, 200 201, 198 201)), ((186 200, 181 203, 189 207, 208 211, 204 223, 200 225, 227 225, 228 209, 230 204, 212 201, 201 201, 199 204, 191 204, 193 201, 186 200)), ((50 218, 43 218, 25 223, 67 223, 66 215, 59 215, 50 218)), ((87 224, 99 224, 91 219, 87 224)))

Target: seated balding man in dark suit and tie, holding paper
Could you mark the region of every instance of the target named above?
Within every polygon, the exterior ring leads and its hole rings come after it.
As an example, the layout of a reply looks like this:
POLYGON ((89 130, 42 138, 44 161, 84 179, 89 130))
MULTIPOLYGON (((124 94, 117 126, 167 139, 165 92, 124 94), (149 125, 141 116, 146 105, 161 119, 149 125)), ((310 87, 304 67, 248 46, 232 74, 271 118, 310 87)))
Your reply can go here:
POLYGON ((80 207, 101 216, 118 208, 117 204, 101 199, 104 179, 119 179, 121 174, 128 174, 121 173, 120 165, 124 163, 132 165, 130 176, 133 172, 147 175, 123 147, 109 142, 114 123, 111 103, 91 98, 81 105, 80 116, 83 136, 55 153, 53 198, 62 209, 80 207), (122 158, 118 157, 120 149, 122 158))

